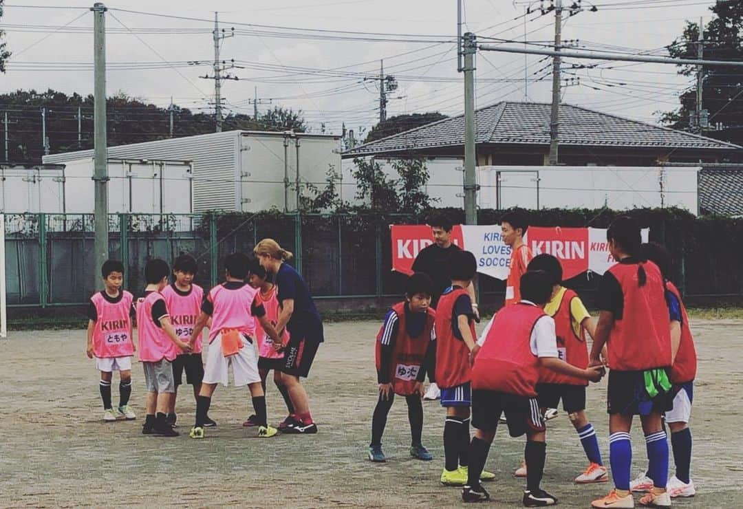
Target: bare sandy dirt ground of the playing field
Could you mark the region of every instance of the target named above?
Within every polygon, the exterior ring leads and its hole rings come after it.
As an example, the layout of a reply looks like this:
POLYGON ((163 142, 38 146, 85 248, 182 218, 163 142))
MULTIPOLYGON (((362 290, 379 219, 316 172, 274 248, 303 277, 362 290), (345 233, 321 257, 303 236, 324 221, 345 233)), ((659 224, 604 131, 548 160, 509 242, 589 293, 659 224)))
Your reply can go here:
MULTIPOLYGON (((0 506, 461 506, 457 488, 442 487, 444 410, 424 405, 424 444, 435 455, 409 457, 404 401, 397 401, 383 444, 388 462, 366 459, 371 412, 376 402, 374 336, 377 322, 326 326, 326 342, 307 381, 317 435, 256 438, 241 427, 250 410, 247 388, 219 387, 212 403, 218 428, 207 439, 189 439, 194 404, 184 391, 178 404, 178 438, 141 435, 134 422, 105 424, 98 375, 85 357, 84 331, 25 331, 0 340, 0 506)), ((740 507, 743 442, 740 387, 743 383, 743 321, 692 323, 699 354, 692 432, 692 477, 698 495, 679 499, 682 508, 740 507)), ((142 414, 143 373, 133 369, 132 404, 142 414)), ((114 404, 117 378, 114 375, 114 404)), ((608 463, 606 379, 591 386, 588 414, 608 463)), ((269 418, 285 416, 275 388, 268 390, 269 418)), ((521 507, 522 481, 511 476, 522 458, 523 439, 499 431, 487 468, 488 507, 521 507)), ((645 464, 639 423, 632 431, 633 474, 645 464)), ((562 507, 588 507, 609 484, 576 486, 585 466, 577 435, 561 411, 548 424, 543 487, 562 507)), ((672 464, 672 462, 671 462, 672 464)), ((672 469, 671 469, 672 470, 672 469)))

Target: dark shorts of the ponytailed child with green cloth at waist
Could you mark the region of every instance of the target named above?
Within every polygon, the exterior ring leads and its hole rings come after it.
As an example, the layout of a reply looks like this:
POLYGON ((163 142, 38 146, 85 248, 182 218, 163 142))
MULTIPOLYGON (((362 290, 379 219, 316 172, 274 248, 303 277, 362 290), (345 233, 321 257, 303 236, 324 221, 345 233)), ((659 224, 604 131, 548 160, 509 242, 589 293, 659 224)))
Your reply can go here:
POLYGON ((673 391, 661 392, 654 398, 645 390, 642 371, 609 370, 609 387, 606 390, 606 412, 623 415, 649 415, 673 408, 673 391))

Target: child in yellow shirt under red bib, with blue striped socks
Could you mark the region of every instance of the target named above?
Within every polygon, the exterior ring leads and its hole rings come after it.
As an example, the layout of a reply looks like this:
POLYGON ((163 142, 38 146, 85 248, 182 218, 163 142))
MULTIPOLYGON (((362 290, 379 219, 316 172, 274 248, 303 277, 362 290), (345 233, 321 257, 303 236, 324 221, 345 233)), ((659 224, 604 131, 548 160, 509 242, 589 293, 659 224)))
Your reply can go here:
MULTIPOLYGON (((550 254, 540 254, 529 262, 528 270, 542 270, 550 279, 552 293, 544 309, 555 322, 559 358, 577 368, 587 368, 588 344, 585 342, 585 335, 593 337, 596 327, 580 297, 562 286, 562 265, 559 260, 550 254)), ((567 412, 571 424, 578 433, 580 444, 583 445, 585 456, 588 458, 588 467, 575 478, 575 482, 588 484, 609 481, 606 467, 601 461, 596 430, 585 415, 585 389, 588 380, 554 372, 551 369, 539 371, 536 392, 540 411, 557 408, 562 400, 562 408, 567 412)), ((516 477, 526 477, 526 474, 525 466, 516 470, 516 477)))

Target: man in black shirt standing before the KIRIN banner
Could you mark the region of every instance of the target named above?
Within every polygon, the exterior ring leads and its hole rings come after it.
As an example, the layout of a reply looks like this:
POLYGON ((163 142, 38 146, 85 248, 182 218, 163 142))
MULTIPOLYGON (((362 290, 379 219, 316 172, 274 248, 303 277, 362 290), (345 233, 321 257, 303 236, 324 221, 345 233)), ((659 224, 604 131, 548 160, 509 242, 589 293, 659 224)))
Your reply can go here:
MULTIPOLYGON (((432 279, 433 294, 431 296, 431 307, 436 308, 441 294, 451 286, 449 256, 454 251, 461 250, 461 248, 452 243, 452 228, 454 227, 452 221, 444 217, 438 217, 429 221, 429 224, 434 243, 424 247, 418 253, 418 256, 415 257, 415 261, 413 262, 412 270, 413 272, 427 274, 432 279)), ((476 317, 479 317, 474 285, 470 285, 467 288, 467 292, 470 294, 470 299, 473 302, 473 313, 476 317)), ((438 399, 441 393, 438 390, 435 380, 433 380, 435 362, 432 366, 426 366, 426 371, 428 372, 428 380, 431 384, 426 391, 424 399, 438 399)))

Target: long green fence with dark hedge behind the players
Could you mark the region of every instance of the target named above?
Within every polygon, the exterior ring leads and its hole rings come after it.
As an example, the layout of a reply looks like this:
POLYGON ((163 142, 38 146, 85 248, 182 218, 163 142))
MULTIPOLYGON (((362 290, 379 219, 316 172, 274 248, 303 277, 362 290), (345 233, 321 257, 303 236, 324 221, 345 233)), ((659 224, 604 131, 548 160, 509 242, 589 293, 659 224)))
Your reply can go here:
MULTIPOLYGON (((460 213, 461 211, 456 211, 460 213)), ((6 293, 10 308, 84 305, 100 285, 94 267, 92 214, 5 214, 6 293)), ((456 219, 456 218, 455 218, 456 219)), ((485 224, 497 222, 490 218, 485 224)), ((548 225, 565 218, 535 218, 548 225)), ((580 218, 574 218, 580 224, 580 218)), ((609 221, 609 218, 607 218, 609 221)), ((743 221, 705 218, 687 224, 671 216, 643 221, 650 238, 675 254, 675 282, 702 304, 739 302, 743 296, 743 221)), ((172 262, 189 253, 198 262, 195 282, 210 288, 224 279, 224 257, 252 253, 258 241, 276 239, 294 253, 290 263, 318 299, 360 299, 379 307, 399 296, 404 277, 392 272, 389 224, 423 224, 409 215, 295 215, 282 213, 201 215, 109 215, 109 253, 126 266, 126 288, 140 294, 147 260, 172 262)), ((576 225, 578 225, 578 222, 576 225)), ((569 285, 590 305, 600 277, 577 276, 569 285)), ((503 282, 479 278, 484 302, 497 303, 503 282)), ((351 301, 349 301, 351 302, 351 301)))

